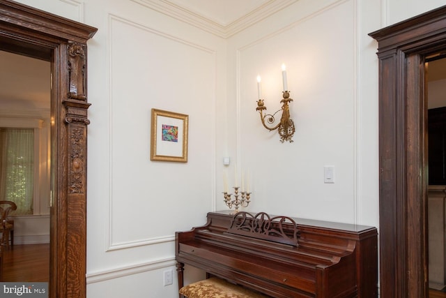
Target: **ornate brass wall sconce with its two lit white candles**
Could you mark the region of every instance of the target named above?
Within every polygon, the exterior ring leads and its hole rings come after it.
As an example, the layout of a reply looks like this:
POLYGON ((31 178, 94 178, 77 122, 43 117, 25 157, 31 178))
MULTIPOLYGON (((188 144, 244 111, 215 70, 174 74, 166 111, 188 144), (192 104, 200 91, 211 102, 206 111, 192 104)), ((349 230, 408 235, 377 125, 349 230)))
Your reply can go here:
POLYGON ((268 131, 275 131, 277 129, 277 132, 280 136, 280 142, 293 142, 291 138, 293 137, 293 134, 295 132, 294 123, 293 120, 290 119, 290 108, 288 103, 293 101, 292 98, 290 98, 290 91, 288 91, 288 86, 286 84, 286 68, 285 65, 282 64, 282 80, 284 84, 284 91, 282 91, 283 99, 280 100, 280 103, 282 103, 282 109, 278 110, 274 114, 266 114, 263 113, 263 110, 266 110, 266 106, 263 103, 263 99, 261 99, 261 77, 260 75, 257 76, 257 91, 259 93, 259 100, 257 100, 257 107, 256 110, 259 111, 260 119, 262 121, 263 126, 268 129, 268 131), (275 114, 282 111, 282 116, 280 117, 280 121, 275 124, 275 114), (267 124, 268 123, 268 124, 267 124))

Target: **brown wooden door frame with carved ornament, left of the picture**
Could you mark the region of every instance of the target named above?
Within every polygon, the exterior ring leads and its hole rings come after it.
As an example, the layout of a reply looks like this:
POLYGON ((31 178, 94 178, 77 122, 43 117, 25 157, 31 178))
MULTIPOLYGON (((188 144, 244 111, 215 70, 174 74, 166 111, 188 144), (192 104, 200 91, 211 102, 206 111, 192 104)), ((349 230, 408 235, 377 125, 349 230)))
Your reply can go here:
POLYGON ((0 50, 52 65, 49 297, 86 297, 86 42, 97 29, 0 0, 0 50))

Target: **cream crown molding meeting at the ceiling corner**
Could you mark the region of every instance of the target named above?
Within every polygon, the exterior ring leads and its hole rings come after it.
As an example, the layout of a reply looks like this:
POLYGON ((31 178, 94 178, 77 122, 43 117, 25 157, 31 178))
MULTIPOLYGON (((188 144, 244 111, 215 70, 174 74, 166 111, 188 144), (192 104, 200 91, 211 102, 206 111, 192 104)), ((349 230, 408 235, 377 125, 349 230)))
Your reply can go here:
POLYGON ((210 20, 203 15, 194 13, 192 10, 188 10, 168 0, 132 0, 135 3, 139 3, 142 6, 156 10, 164 15, 169 15, 169 17, 174 17, 177 20, 190 24, 194 27, 213 33, 215 36, 221 38, 229 38, 234 34, 247 29, 248 27, 256 24, 266 17, 277 13, 279 10, 286 8, 292 3, 298 0, 270 0, 258 8, 247 13, 238 20, 231 22, 230 24, 224 25, 214 20, 210 20))

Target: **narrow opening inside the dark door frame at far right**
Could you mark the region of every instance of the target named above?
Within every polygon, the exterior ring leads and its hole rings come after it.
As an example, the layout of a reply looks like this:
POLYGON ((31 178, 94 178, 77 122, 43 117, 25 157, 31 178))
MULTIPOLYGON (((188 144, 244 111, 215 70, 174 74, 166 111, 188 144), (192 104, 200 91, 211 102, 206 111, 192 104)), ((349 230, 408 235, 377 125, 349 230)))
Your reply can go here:
POLYGON ((426 57, 429 297, 446 298, 446 58, 426 57))

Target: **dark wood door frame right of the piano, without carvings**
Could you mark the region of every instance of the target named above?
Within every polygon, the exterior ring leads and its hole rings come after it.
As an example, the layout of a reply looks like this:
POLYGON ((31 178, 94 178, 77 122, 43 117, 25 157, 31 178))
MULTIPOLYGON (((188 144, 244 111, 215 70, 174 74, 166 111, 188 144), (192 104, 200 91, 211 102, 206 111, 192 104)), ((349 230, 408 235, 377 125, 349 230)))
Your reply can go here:
POLYGON ((379 59, 380 297, 428 297, 424 61, 446 50, 446 6, 369 35, 379 59))

